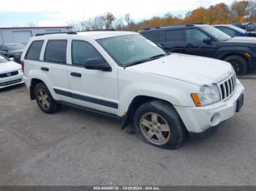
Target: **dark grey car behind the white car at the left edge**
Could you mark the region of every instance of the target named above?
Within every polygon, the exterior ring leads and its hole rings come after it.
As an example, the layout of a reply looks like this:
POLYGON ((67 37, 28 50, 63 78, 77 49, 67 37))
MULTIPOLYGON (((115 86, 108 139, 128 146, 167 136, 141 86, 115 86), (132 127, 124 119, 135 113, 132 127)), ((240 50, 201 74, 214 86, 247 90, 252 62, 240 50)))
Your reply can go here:
POLYGON ((24 44, 7 43, 0 45, 0 53, 8 58, 14 58, 15 62, 20 63, 20 57, 25 48, 24 44))

